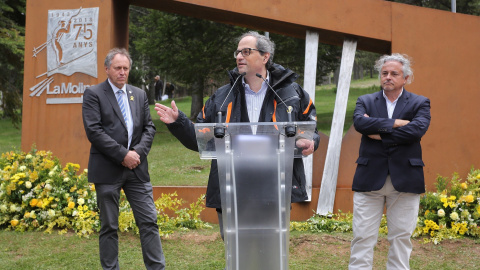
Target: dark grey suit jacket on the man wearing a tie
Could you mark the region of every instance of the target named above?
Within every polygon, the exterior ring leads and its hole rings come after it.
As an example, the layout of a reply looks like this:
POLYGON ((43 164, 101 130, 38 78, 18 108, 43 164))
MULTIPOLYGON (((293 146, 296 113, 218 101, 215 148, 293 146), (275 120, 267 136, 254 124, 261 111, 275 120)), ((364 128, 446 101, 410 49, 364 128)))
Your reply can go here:
MULTIPOLYGON (((140 165, 133 171, 144 182, 150 181, 147 155, 155 136, 145 91, 128 85, 128 103, 132 111, 133 134, 130 150, 140 155, 140 165)), ((113 183, 119 180, 125 167, 128 132, 115 93, 108 80, 87 88, 83 94, 83 125, 90 141, 88 181, 113 183)))

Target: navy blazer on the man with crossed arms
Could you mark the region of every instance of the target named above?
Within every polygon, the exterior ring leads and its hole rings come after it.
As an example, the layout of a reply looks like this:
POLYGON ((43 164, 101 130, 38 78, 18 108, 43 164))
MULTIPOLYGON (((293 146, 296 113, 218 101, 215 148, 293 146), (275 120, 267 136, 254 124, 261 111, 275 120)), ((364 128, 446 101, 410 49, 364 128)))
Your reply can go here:
POLYGON ((430 118, 430 100, 406 90, 397 101, 392 119, 388 119, 382 91, 359 97, 353 124, 362 134, 362 141, 352 189, 379 190, 390 174, 397 191, 425 192, 420 140, 430 125, 430 118), (410 123, 393 128, 395 119, 410 123), (382 140, 370 139, 370 134, 380 134, 382 140))

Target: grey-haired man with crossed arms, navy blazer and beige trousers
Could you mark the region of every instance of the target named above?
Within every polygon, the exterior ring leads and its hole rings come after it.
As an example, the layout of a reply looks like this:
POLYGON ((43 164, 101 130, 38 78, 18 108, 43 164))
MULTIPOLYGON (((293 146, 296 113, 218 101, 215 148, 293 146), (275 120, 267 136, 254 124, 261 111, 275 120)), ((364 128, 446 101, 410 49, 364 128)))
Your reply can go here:
POLYGON ((353 178, 353 240, 349 269, 372 269, 373 248, 387 209, 387 269, 410 269, 410 236, 425 192, 420 140, 430 125, 430 100, 404 88, 410 60, 382 56, 375 68, 382 91, 358 98, 353 125, 362 134, 353 178))

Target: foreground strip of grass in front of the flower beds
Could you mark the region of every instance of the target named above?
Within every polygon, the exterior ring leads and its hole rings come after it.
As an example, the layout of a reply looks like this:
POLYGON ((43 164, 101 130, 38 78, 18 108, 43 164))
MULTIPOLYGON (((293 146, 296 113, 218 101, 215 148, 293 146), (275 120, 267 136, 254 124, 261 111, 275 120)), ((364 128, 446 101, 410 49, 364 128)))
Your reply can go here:
MULTIPOLYGON (((289 269, 347 269, 351 233, 290 234, 289 269)), ((221 270, 224 247, 213 229, 178 232, 162 239, 167 269, 221 270)), ((446 240, 440 245, 413 240, 412 269, 479 269, 480 243, 472 239, 446 240)), ((373 269, 385 269, 388 241, 381 236, 375 247, 373 269)), ((119 235, 121 269, 145 269, 140 239, 131 233, 119 235)), ((2 269, 101 269, 98 236, 78 238, 74 234, 0 231, 0 270, 2 269)))

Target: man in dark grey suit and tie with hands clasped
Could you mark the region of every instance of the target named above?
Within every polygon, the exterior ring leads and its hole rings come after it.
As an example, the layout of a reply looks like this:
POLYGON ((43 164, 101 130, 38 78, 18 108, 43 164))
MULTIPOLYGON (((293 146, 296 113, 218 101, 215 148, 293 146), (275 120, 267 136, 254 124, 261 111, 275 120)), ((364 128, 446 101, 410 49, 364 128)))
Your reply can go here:
POLYGON ((103 269, 119 269, 117 230, 123 189, 140 230, 146 268, 165 269, 147 162, 155 126, 146 93, 127 84, 131 66, 128 51, 112 49, 105 58, 108 79, 83 95, 83 124, 91 143, 88 180, 95 183, 100 209, 100 262, 103 269))

